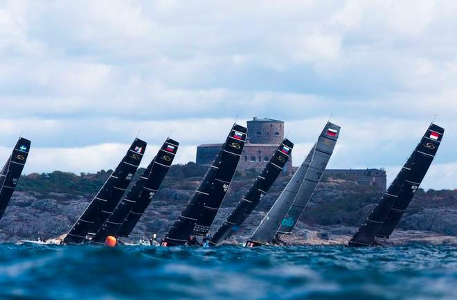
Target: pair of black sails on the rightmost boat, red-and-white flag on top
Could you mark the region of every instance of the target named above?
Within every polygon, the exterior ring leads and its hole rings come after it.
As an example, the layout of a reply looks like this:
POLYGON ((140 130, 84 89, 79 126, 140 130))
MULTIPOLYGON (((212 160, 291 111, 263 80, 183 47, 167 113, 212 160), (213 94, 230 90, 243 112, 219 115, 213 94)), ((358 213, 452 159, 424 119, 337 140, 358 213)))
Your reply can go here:
POLYGON ((445 130, 431 124, 375 209, 352 237, 349 246, 373 245, 376 236, 388 237, 418 190, 436 155, 445 130))

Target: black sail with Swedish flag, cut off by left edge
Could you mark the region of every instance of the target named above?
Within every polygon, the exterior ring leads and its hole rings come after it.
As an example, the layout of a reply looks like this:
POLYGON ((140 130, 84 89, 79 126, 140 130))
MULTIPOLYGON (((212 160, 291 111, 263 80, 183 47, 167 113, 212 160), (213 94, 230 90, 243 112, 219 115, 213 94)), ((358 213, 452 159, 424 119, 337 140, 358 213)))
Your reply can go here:
POLYGON ((26 164, 28 151, 30 150, 30 141, 19 138, 12 154, 6 161, 5 166, 0 173, 0 219, 10 202, 12 193, 15 191, 19 177, 26 164))

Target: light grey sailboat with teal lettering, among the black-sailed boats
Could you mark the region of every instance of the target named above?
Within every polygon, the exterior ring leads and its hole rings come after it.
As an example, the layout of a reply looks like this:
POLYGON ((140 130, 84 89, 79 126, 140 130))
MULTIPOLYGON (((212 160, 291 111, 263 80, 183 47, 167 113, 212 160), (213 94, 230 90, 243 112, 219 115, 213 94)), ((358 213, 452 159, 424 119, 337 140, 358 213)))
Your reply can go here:
POLYGON ((246 243, 247 247, 279 244, 278 233, 290 233, 321 180, 339 137, 340 127, 328 122, 316 144, 278 200, 246 243))

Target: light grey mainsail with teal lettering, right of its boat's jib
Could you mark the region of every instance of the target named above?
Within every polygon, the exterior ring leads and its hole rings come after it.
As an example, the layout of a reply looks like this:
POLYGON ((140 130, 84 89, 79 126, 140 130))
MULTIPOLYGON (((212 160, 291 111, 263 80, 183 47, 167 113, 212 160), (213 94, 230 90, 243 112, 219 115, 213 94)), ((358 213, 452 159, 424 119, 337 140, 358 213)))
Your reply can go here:
POLYGON ((310 168, 308 168, 305 179, 298 190, 292 206, 283 221, 281 221, 281 227, 278 233, 292 233, 296 222, 298 222, 303 211, 305 211, 305 207, 308 202, 310 202, 317 184, 321 181, 325 168, 327 168, 328 161, 330 161, 330 157, 333 154, 335 145, 337 145, 339 132, 339 126, 330 122, 325 125, 325 128, 316 143, 316 147, 312 152, 310 168))

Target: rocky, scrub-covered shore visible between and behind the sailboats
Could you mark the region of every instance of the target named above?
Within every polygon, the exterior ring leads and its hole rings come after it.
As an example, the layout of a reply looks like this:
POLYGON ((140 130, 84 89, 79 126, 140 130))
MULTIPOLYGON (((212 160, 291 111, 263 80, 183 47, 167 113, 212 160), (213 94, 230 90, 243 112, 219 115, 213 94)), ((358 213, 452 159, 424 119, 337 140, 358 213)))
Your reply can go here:
MULTIPOLYGON (((84 180, 85 178, 83 177, 84 180)), ((290 177, 278 178, 270 193, 249 216, 239 233, 227 242, 243 243, 251 236, 289 179, 290 177)), ((28 180, 28 184, 33 186, 33 179, 28 180)), ((132 232, 132 240, 147 238, 152 233, 158 233, 159 238, 163 238, 192 197, 200 180, 201 177, 168 177, 132 232)), ((253 180, 254 178, 250 177, 235 178, 211 232, 223 222, 253 180)), ((97 182, 99 181, 101 179, 97 182)), ((87 194, 82 194, 80 186, 78 193, 72 193, 71 188, 68 193, 38 193, 31 187, 30 191, 24 190, 23 187, 22 191, 13 195, 0 221, 1 242, 35 239, 38 236, 54 238, 66 233, 91 201, 96 188, 92 187, 91 193, 87 194)), ((58 191, 64 191, 64 188, 59 188, 58 191)), ((356 182, 328 178, 319 184, 294 234, 284 239, 294 244, 345 244, 380 196, 379 191, 359 186, 356 182), (321 232, 329 233, 329 239, 319 238, 318 233, 321 232)), ((456 199, 457 191, 419 191, 400 222, 399 229, 403 230, 395 231, 391 240, 386 242, 417 239, 427 242, 455 242, 452 236, 457 236, 456 199)))

